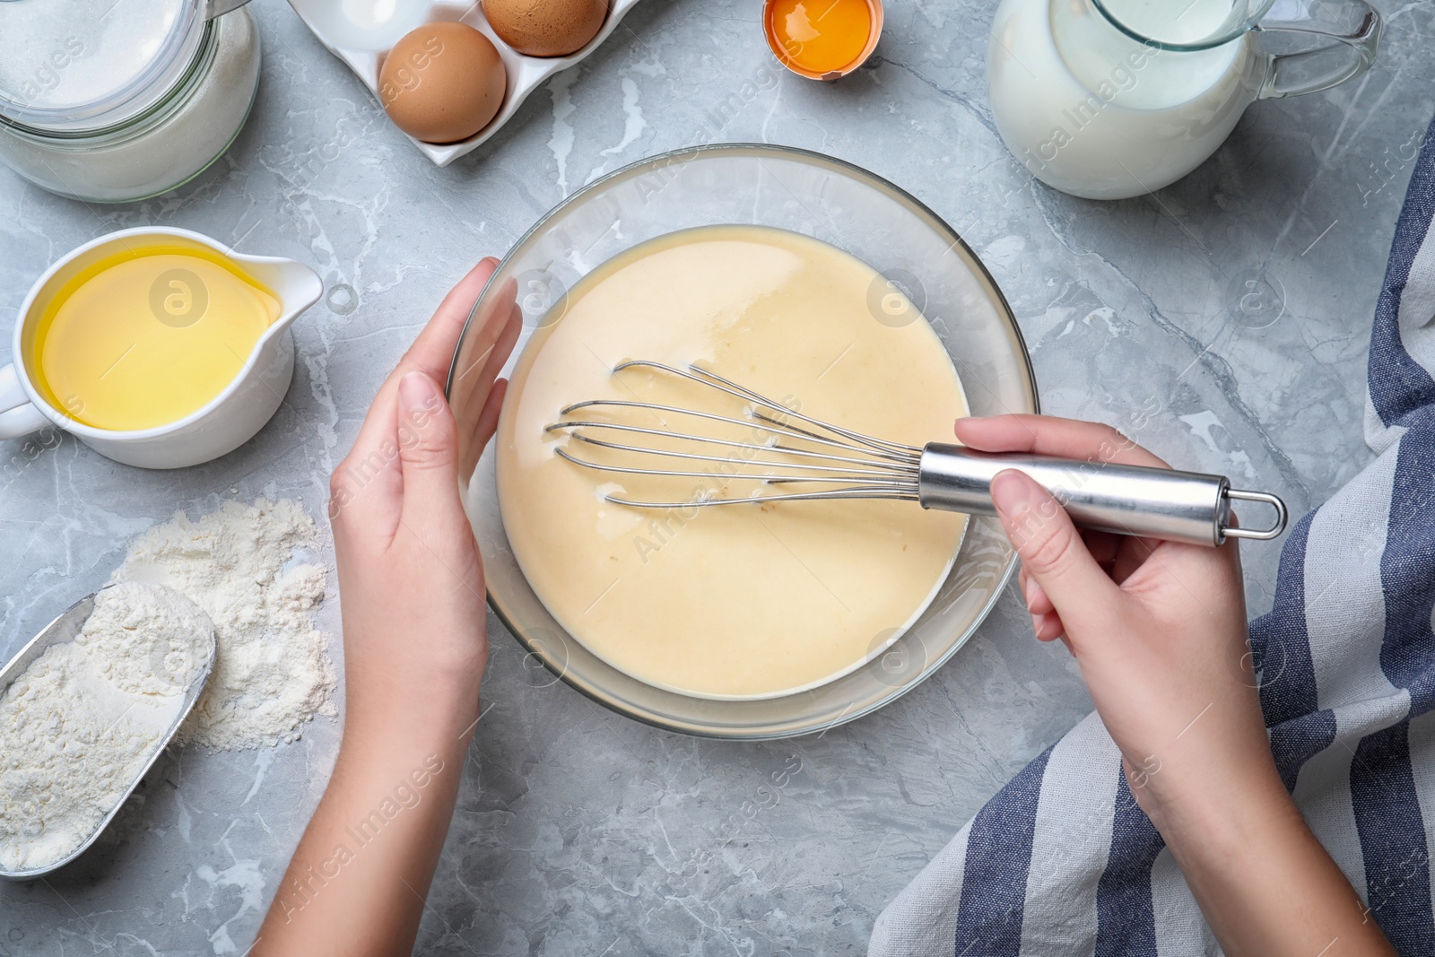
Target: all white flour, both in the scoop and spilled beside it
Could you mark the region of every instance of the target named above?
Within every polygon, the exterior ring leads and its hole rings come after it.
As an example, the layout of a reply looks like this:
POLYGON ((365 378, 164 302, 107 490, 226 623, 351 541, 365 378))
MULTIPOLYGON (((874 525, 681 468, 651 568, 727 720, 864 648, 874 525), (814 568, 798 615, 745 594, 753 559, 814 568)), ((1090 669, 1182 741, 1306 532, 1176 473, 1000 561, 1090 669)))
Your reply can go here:
POLYGON ((179 720, 211 620, 214 669, 177 742, 276 745, 336 713, 313 623, 329 575, 300 560, 317 545, 298 504, 264 499, 135 539, 75 640, 0 694, 0 867, 57 864, 119 805, 179 720))

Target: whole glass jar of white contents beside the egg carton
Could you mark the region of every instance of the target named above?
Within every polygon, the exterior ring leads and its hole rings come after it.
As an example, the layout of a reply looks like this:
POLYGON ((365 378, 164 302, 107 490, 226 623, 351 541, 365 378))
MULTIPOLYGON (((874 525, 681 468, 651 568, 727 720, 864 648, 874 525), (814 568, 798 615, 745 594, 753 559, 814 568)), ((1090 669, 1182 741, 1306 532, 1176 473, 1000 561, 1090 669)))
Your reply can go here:
POLYGON ((258 89, 254 19, 204 0, 0 1, 0 36, 22 52, 0 63, 0 159, 72 199, 188 182, 234 142, 258 89))

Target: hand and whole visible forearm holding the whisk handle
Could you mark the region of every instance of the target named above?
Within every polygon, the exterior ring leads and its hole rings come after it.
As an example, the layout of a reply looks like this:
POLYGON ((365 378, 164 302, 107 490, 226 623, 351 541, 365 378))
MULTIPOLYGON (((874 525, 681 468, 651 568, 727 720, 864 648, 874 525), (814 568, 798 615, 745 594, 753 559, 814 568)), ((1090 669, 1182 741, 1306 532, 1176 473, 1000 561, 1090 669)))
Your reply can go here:
MULTIPOLYGON (((984 452, 1170 468, 1115 429, 961 419, 984 452)), ((1007 469, 992 498, 1022 558, 1036 637, 1062 638, 1121 749, 1131 792, 1231 957, 1395 951, 1276 772, 1248 651, 1241 564, 1220 548, 1083 532, 1007 469)))

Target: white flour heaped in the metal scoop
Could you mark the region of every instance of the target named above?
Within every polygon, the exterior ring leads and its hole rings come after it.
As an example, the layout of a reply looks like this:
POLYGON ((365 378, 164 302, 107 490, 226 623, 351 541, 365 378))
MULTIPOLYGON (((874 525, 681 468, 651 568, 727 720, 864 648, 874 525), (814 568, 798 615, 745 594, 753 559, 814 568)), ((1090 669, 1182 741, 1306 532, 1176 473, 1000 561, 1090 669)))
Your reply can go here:
POLYGON ((0 867, 79 849, 123 801, 184 712, 212 626, 168 588, 105 588, 73 641, 0 696, 0 867))

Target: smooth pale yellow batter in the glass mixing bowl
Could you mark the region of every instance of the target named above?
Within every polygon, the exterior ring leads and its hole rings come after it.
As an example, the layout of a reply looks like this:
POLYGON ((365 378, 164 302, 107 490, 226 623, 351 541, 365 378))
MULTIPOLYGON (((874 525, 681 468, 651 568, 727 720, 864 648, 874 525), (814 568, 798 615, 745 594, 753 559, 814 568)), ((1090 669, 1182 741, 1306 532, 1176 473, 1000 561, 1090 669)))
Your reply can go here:
MULTIPOLYGON (((901 294, 865 263, 765 227, 659 237, 575 284, 555 307, 561 317, 519 357, 497 439, 499 508, 514 555, 570 634, 650 684, 752 699, 834 680, 916 620, 946 578, 964 515, 894 501, 614 505, 604 495, 689 502, 791 488, 591 471, 558 458, 555 446, 639 468, 702 466, 606 453, 544 432, 563 406, 584 399, 743 415, 738 400, 674 376, 611 373, 623 360, 650 359, 696 362, 804 415, 884 439, 920 446, 950 436, 953 419, 967 412, 951 360, 924 319, 895 329, 878 321, 870 303, 883 296, 891 306, 901 294)), ((722 429, 643 410, 585 418, 705 435, 722 429)), ((762 433, 733 438, 761 442, 762 433)), ((730 471, 752 471, 742 452, 732 455, 730 471)))

